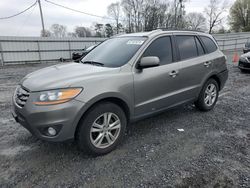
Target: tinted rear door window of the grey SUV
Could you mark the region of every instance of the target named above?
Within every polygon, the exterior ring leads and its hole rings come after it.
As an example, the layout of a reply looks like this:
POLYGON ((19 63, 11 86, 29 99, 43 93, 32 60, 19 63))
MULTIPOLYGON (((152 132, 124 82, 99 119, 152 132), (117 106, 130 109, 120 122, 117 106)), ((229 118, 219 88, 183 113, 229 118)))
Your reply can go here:
POLYGON ((181 60, 198 56, 194 36, 176 36, 181 60))

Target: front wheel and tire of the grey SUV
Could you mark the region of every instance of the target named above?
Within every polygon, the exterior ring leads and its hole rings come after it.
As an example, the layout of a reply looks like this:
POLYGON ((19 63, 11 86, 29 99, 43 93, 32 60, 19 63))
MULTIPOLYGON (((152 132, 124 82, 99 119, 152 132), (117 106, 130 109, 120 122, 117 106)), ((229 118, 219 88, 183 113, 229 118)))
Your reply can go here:
POLYGON ((122 141, 127 125, 124 111, 116 104, 93 106, 80 121, 76 135, 79 148, 91 155, 104 155, 122 141))

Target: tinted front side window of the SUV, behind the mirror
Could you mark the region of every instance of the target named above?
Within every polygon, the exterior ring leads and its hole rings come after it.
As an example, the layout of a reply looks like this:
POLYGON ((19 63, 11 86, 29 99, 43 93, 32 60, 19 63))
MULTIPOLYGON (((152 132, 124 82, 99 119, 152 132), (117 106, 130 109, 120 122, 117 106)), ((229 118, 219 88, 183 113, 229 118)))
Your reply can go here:
POLYGON ((157 56, 160 64, 165 65, 173 61, 170 37, 161 37, 153 41, 143 53, 143 57, 157 56))

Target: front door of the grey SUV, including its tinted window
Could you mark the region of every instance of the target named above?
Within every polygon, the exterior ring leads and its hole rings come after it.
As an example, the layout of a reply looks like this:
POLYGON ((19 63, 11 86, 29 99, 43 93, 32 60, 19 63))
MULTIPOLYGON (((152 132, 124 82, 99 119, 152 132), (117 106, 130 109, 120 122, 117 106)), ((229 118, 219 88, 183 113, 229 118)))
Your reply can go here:
POLYGON ((134 71, 135 116, 140 117, 179 102, 179 62, 173 62, 170 36, 155 39, 142 57, 157 56, 160 66, 134 71), (176 95, 177 94, 177 95, 176 95))

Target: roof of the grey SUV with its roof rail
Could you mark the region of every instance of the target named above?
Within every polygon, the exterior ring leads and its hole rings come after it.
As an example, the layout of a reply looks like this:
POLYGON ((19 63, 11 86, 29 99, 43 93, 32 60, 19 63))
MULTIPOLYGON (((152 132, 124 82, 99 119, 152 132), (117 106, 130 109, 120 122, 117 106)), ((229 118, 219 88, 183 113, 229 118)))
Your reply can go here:
POLYGON ((129 34, 121 34, 115 35, 114 37, 154 37, 161 34, 193 34, 193 35, 204 35, 209 36, 211 35, 206 34, 201 31, 193 31, 193 30, 165 30, 165 29, 157 29, 149 32, 139 32, 139 33, 129 33, 129 34))

